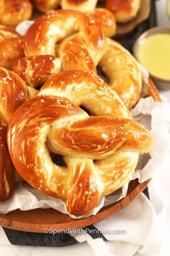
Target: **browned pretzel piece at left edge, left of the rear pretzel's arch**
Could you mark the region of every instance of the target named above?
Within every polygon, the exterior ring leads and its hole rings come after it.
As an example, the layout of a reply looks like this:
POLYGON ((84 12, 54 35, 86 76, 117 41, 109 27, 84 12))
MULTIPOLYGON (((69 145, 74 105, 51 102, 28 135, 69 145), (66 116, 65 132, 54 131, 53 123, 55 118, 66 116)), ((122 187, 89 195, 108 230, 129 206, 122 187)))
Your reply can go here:
POLYGON ((0 24, 0 67, 10 68, 15 59, 24 56, 23 39, 12 28, 0 24))

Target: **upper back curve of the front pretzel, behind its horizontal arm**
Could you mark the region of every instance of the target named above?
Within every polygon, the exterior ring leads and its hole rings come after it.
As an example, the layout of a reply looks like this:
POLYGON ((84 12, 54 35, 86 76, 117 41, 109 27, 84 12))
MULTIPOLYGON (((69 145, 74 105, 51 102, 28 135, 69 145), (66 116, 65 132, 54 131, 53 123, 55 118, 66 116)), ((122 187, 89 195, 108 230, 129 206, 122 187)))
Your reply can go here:
POLYGON ((57 74, 40 88, 38 95, 41 94, 67 97, 94 116, 114 114, 116 117, 132 119, 130 111, 115 90, 87 71, 71 70, 57 74))

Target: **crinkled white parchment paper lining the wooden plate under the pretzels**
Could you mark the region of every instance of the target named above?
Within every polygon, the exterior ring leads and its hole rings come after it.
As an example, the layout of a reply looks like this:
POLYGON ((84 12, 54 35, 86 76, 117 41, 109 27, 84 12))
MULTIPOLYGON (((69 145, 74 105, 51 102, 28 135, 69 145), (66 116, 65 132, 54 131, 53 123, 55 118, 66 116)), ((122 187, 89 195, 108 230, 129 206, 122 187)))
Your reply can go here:
MULTIPOLYGON (((147 83, 147 72, 142 68, 143 83, 147 83)), ((145 86, 144 86, 145 88, 145 86)), ((149 154, 139 157, 139 164, 130 180, 139 179, 139 183, 152 178, 154 173, 161 172, 165 164, 170 161, 170 104, 164 99, 162 102, 155 102, 152 97, 141 98, 137 105, 131 111, 133 119, 144 125, 154 138, 154 148, 149 154)), ((107 197, 99 200, 95 209, 86 216, 76 217, 67 212, 65 202, 53 197, 48 197, 38 192, 27 183, 18 183, 14 194, 5 202, 0 202, 0 212, 6 214, 11 210, 21 209, 30 210, 37 208, 53 208, 62 213, 69 214, 73 218, 89 217, 96 214, 101 207, 113 204, 126 197, 128 183, 122 188, 116 190, 107 197)))

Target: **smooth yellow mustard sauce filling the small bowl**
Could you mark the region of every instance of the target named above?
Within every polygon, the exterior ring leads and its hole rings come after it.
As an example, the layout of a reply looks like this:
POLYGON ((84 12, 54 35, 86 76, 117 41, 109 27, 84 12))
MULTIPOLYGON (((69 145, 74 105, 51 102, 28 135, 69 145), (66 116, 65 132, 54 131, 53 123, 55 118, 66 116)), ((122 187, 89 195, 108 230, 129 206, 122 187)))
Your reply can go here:
POLYGON ((151 75, 170 79, 170 34, 147 37, 139 49, 139 61, 151 75))

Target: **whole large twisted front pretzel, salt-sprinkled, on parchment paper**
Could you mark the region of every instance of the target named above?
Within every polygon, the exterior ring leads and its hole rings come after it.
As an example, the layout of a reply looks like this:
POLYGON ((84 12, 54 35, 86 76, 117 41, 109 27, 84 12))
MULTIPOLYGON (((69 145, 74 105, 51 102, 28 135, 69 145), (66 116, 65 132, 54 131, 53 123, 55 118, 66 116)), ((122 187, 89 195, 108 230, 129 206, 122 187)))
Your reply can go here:
POLYGON ((66 200, 67 210, 82 216, 96 207, 100 197, 128 181, 139 154, 152 148, 152 137, 144 126, 130 119, 123 102, 98 76, 65 71, 49 81, 39 95, 13 114, 8 128, 9 152, 15 168, 31 186, 66 200), (59 87, 55 94, 54 88, 50 90, 54 79, 59 87), (87 109, 96 116, 89 116, 67 98, 71 83, 75 83, 75 92, 88 84, 91 96, 89 92, 86 96, 84 88, 79 104, 90 97, 92 104, 88 103, 87 109), (65 97, 60 85, 65 87, 65 97), (93 88, 97 91, 94 102, 93 88), (111 99, 113 109, 111 104, 107 106, 111 99), (116 104, 122 105, 122 118, 115 115, 116 104), (62 156, 64 164, 52 161, 51 154, 62 156))

